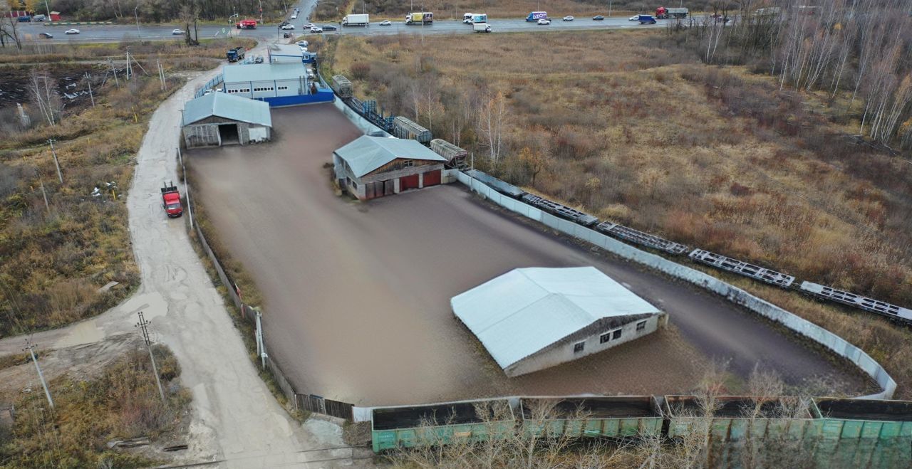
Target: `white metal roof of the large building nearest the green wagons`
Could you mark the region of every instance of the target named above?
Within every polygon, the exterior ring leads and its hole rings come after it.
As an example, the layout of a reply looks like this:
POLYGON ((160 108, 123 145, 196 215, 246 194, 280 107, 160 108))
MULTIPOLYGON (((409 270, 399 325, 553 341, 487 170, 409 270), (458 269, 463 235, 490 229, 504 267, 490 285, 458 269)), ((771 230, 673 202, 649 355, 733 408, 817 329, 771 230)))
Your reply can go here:
POLYGON ((450 304, 501 368, 600 319, 659 312, 594 267, 511 270, 450 304))

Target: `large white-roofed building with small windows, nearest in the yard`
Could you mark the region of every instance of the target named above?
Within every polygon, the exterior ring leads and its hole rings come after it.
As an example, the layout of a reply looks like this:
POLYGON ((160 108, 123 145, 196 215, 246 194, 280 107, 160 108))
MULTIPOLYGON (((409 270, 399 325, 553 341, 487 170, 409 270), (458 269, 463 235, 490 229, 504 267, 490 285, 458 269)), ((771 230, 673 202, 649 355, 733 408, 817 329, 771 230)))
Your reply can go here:
POLYGON ((668 321, 594 267, 515 269, 450 303, 510 377, 605 351, 668 321))

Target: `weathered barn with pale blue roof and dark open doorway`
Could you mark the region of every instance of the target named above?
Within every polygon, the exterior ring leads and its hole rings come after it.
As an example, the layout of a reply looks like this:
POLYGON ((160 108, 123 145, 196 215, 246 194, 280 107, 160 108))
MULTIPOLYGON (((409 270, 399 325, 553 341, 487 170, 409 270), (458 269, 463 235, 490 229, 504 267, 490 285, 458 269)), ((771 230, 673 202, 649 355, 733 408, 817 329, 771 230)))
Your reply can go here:
POLYGON ((187 148, 246 145, 272 138, 273 119, 263 101, 210 93, 184 104, 182 127, 187 148))

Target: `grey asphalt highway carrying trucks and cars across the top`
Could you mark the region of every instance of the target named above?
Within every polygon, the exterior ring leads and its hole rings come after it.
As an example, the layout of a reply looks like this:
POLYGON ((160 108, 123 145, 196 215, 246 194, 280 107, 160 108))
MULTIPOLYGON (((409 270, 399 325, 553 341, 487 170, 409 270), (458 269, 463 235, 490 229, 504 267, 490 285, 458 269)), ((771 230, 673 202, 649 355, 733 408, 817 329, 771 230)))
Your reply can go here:
MULTIPOLYGON (((302 3, 312 3, 305 0, 302 3)), ((303 10, 303 8, 302 8, 303 10)), ((566 31, 579 29, 627 29, 627 28, 662 28, 666 22, 673 20, 658 20, 656 25, 639 25, 635 21, 628 21, 625 17, 610 17, 603 21, 593 21, 591 18, 577 18, 574 21, 561 21, 557 19, 551 25, 537 25, 526 22, 524 19, 492 19, 490 25, 492 32, 531 32, 531 31, 566 31)), ((292 22, 295 25, 295 34, 304 34, 302 26, 307 23, 304 16, 292 22)), ((23 23, 18 25, 19 34, 26 42, 119 42, 142 40, 168 40, 180 39, 180 35, 172 35, 174 28, 180 25, 76 25, 76 26, 49 26, 45 23, 23 23), (67 29, 76 28, 78 35, 65 35, 67 29), (40 33, 54 35, 52 39, 41 38, 40 33)), ((255 39, 272 39, 279 36, 277 25, 264 25, 256 29, 238 30, 233 26, 202 25, 200 37, 242 36, 255 39)), ((404 22, 394 22, 389 26, 373 23, 370 26, 346 26, 335 32, 326 34, 342 35, 395 35, 404 34, 472 34, 472 25, 463 25, 456 20, 437 21, 433 25, 405 25, 404 22)))

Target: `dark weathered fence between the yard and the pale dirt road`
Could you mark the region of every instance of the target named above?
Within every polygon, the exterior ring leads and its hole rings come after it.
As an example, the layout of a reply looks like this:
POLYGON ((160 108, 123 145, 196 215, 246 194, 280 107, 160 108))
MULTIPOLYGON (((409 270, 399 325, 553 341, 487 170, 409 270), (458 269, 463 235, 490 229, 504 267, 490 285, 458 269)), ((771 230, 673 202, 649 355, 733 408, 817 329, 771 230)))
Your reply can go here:
MULTIPOLYGON (((180 151, 180 150, 179 150, 180 151)), ((182 158, 181 158, 182 162, 182 158)), ((182 166, 182 165, 181 165, 182 166)), ((186 175, 186 170, 184 175, 186 175)), ((288 378, 285 377, 285 373, 282 372, 282 368, 279 366, 272 357, 266 353, 265 339, 263 335, 262 321, 263 313, 259 308, 245 304, 241 300, 241 296, 238 294, 237 286, 234 282, 228 277, 228 274, 225 272, 222 267, 222 262, 219 261, 218 257, 215 255, 215 252, 212 250, 212 247, 209 245, 209 241, 206 240, 205 235, 202 234, 202 229, 200 224, 195 222, 193 219, 193 212, 195 208, 192 207, 192 199, 190 197, 190 189, 184 185, 184 190, 187 197, 187 205, 191 209, 188 210, 188 219, 190 221, 188 229, 196 232, 197 239, 200 240, 200 245, 202 246, 202 251, 206 253, 206 256, 209 260, 212 260, 212 266, 215 267, 215 271, 218 274, 219 280, 225 287, 225 290, 228 291, 228 296, 231 297, 234 307, 237 308, 241 313, 241 318, 245 321, 250 321, 254 324, 254 333, 256 334, 256 345, 257 345, 257 355, 260 358, 261 366, 267 370, 275 379, 276 385, 279 389, 282 390, 282 393, 285 394, 285 397, 288 399, 289 403, 294 405, 295 410, 304 410, 312 413, 322 413, 324 415, 329 415, 332 417, 337 417, 340 419, 351 420, 352 419, 352 408, 353 404, 350 403, 340 403, 338 401, 333 401, 326 399, 322 396, 314 394, 305 394, 297 393, 295 391, 295 386, 292 384, 288 378)))

